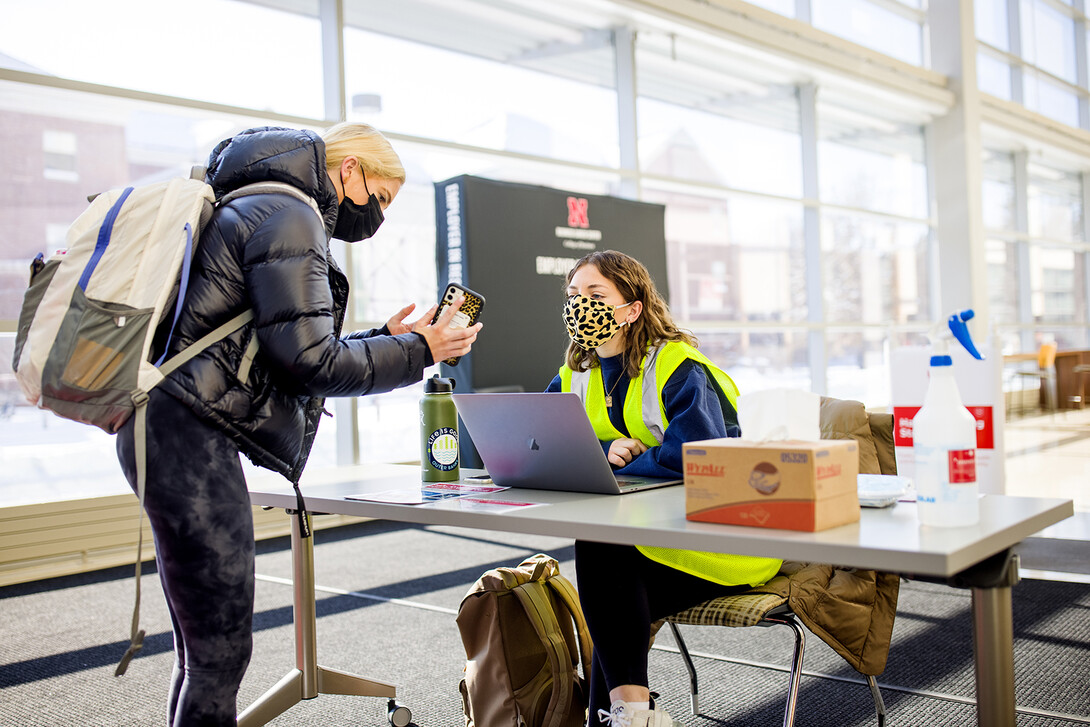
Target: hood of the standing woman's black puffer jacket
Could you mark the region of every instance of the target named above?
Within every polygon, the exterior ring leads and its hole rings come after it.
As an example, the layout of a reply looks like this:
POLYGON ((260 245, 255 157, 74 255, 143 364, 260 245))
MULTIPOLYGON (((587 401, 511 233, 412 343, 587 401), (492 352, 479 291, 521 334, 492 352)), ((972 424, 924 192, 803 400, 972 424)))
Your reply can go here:
POLYGON ((326 145, 312 131, 262 126, 216 145, 208 157, 208 183, 219 199, 255 182, 283 182, 318 203, 326 234, 337 225, 337 190, 326 173, 326 145))

